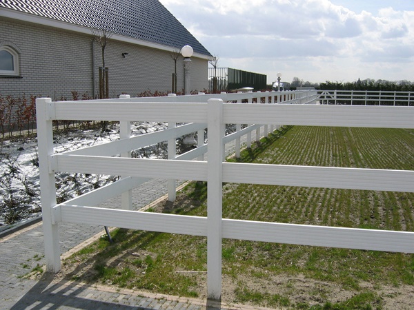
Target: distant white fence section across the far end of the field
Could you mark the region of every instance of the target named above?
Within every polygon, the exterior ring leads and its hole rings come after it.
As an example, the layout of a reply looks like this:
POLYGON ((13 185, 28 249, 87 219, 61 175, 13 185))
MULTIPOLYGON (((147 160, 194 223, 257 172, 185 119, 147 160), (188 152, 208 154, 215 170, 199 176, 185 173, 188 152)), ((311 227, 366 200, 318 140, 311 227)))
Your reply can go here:
POLYGON ((384 90, 318 90, 318 99, 326 105, 405 105, 414 106, 414 92, 384 90))

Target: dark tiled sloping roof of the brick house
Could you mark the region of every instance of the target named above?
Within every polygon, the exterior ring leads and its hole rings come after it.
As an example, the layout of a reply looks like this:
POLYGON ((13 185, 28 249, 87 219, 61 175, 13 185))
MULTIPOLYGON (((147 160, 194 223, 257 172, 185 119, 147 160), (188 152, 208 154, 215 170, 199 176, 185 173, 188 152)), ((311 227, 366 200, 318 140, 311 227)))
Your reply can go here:
POLYGON ((3 0, 0 7, 211 56, 158 0, 3 0))

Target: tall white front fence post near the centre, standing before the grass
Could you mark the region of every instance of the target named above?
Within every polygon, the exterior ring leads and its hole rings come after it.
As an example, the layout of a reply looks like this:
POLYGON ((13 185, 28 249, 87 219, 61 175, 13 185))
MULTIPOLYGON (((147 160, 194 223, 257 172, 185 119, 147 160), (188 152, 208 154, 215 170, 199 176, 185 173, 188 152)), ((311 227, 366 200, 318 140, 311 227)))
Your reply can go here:
POLYGON ((208 100, 207 289, 208 299, 221 298, 221 218, 223 184, 223 101, 208 100))

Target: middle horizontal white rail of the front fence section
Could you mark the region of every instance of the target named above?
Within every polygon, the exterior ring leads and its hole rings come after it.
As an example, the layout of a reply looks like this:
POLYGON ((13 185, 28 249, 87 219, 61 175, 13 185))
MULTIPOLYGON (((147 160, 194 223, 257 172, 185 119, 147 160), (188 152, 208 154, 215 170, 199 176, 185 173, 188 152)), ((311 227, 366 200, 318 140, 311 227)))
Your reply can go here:
MULTIPOLYGON (((206 181, 206 162, 55 155, 54 172, 206 181)), ((262 185, 411 192, 414 171, 224 163, 223 181, 262 185)))

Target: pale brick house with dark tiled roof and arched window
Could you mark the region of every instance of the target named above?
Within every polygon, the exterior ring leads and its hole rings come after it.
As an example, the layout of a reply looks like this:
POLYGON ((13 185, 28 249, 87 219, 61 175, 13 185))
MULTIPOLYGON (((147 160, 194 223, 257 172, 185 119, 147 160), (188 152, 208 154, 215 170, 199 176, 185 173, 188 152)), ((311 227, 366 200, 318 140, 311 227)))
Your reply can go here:
MULTIPOLYGON (((105 49, 109 95, 171 90, 172 53, 193 47, 191 90, 208 88, 211 54, 158 0, 0 1, 0 94, 71 99, 97 96, 101 45, 92 29, 111 37, 105 49)), ((177 90, 184 88, 182 56, 177 90)))

